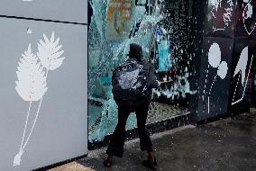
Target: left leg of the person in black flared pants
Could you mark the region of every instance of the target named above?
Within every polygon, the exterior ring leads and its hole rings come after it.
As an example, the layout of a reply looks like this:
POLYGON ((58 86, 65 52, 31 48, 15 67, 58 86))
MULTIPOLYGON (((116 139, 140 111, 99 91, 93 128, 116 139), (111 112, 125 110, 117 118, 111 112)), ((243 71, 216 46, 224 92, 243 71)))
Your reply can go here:
POLYGON ((121 105, 118 106, 118 123, 110 140, 110 144, 106 150, 106 154, 109 156, 123 157, 125 125, 129 114, 129 109, 121 105))

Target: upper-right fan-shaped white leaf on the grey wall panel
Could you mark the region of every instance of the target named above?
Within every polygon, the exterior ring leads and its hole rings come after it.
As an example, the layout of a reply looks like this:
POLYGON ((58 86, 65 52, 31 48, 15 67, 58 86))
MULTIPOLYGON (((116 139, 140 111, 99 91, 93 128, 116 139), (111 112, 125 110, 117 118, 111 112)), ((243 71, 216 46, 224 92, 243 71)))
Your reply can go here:
POLYGON ((55 70, 61 66, 64 57, 60 56, 64 53, 64 50, 60 50, 62 45, 59 45, 59 38, 54 40, 54 32, 51 33, 50 39, 43 34, 43 40, 38 43, 37 56, 41 60, 41 65, 48 70, 55 70))

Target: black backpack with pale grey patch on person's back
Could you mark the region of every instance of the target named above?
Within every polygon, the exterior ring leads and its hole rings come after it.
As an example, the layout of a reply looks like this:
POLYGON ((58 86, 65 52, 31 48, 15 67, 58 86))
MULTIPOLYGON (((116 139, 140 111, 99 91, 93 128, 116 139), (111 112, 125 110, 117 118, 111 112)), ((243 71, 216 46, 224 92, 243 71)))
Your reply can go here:
POLYGON ((138 61, 125 61, 113 69, 115 101, 138 101, 148 94, 148 71, 138 61))

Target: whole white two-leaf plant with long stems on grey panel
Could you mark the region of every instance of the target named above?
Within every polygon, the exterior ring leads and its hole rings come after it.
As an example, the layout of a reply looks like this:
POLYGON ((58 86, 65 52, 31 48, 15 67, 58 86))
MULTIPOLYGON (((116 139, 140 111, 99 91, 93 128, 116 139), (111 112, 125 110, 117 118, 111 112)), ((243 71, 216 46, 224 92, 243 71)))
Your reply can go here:
POLYGON ((19 152, 14 157, 14 166, 19 166, 21 164, 24 148, 32 135, 41 109, 43 95, 48 90, 46 81, 49 75, 49 70, 57 69, 61 66, 64 60, 64 57, 61 57, 64 51, 60 50, 62 45, 59 45, 59 38, 57 40, 54 39, 54 32, 51 33, 50 39, 48 39, 45 34, 43 34, 43 38, 44 41, 40 40, 40 43, 38 43, 37 56, 32 53, 31 44, 29 44, 28 50, 24 51, 24 54, 22 55, 23 58, 20 58, 19 66, 17 67, 16 74, 18 81, 15 82, 15 89, 23 100, 30 102, 30 104, 24 125, 22 143, 19 152), (32 102, 35 101, 40 101, 40 103, 32 123, 32 129, 24 142, 32 102))

